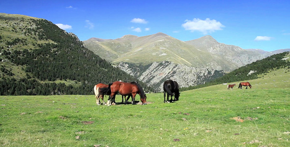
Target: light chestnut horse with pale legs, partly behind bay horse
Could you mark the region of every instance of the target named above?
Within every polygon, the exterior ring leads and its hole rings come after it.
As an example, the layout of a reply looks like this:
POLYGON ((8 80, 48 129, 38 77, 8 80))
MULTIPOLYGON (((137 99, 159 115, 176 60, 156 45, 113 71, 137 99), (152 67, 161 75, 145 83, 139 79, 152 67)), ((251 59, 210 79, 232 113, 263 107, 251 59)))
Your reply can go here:
MULTIPOLYGON (((96 97, 96 104, 97 105, 100 105, 100 98, 102 98, 103 100, 103 104, 106 105, 107 103, 105 103, 104 101, 104 95, 107 95, 107 96, 110 96, 111 93, 107 93, 107 92, 101 92, 100 89, 101 88, 108 88, 109 85, 106 85, 106 84, 103 84, 103 83, 99 83, 97 85, 94 86, 94 93, 95 93, 95 97, 96 97)), ((127 98, 127 101, 128 99, 130 98, 131 95, 128 96, 127 98)), ((125 96, 125 100, 126 100, 126 96, 125 96)), ((116 103, 115 101, 115 98, 114 98, 114 102, 116 103)), ((124 96, 122 96, 122 103, 124 102, 124 96)))

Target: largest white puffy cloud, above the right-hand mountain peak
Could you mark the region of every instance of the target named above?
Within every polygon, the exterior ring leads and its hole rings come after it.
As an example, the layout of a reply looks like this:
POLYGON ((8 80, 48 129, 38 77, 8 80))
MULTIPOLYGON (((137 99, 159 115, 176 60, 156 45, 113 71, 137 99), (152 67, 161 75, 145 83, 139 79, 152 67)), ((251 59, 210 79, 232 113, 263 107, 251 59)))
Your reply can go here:
POLYGON ((199 18, 195 18, 192 21, 185 20, 185 23, 181 26, 183 26, 185 30, 191 30, 192 32, 200 31, 203 34, 212 33, 216 30, 222 30, 222 27, 225 27, 220 22, 210 20, 209 18, 205 20, 201 20, 199 18))

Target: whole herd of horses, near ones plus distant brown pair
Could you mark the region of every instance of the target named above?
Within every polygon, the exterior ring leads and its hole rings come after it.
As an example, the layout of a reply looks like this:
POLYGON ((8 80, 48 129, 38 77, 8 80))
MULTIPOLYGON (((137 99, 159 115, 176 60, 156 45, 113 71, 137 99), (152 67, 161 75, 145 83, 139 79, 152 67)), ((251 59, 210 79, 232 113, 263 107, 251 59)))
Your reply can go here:
MULTIPOLYGON (((235 84, 229 84, 228 89, 233 88, 235 84)), ((239 89, 242 89, 242 86, 246 86, 246 89, 248 89, 248 86, 252 88, 252 85, 249 82, 241 82, 239 84, 239 89)), ((163 83, 163 93, 164 93, 164 103, 169 103, 172 101, 179 100, 179 86, 176 81, 173 80, 166 80, 163 83), (167 94, 167 99, 166 99, 167 94), (169 100, 169 96, 171 96, 171 100, 169 100), (174 99, 172 98, 174 96, 174 99)), ((94 86, 94 93, 96 98, 96 104, 100 105, 101 101, 100 98, 103 101, 104 105, 112 105, 116 104, 115 98, 116 95, 119 94, 122 96, 122 103, 127 104, 129 98, 132 98, 132 104, 136 104, 135 97, 136 95, 140 95, 140 100, 143 105, 146 104, 146 94, 143 90, 143 88, 136 82, 122 82, 122 81, 115 81, 113 83, 110 83, 109 85, 99 83, 94 86), (109 96, 107 103, 104 101, 104 96, 109 96), (126 98, 127 97, 127 98, 126 98), (125 102, 124 102, 125 98, 125 102)))

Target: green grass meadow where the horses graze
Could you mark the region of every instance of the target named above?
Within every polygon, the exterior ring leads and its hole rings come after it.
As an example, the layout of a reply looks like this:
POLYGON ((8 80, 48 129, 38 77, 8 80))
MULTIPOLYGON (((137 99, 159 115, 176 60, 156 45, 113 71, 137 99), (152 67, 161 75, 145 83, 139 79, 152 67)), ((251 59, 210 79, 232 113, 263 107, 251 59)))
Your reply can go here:
POLYGON ((252 89, 185 91, 173 103, 162 93, 112 106, 94 96, 0 96, 0 146, 290 147, 289 73, 263 74, 252 89))

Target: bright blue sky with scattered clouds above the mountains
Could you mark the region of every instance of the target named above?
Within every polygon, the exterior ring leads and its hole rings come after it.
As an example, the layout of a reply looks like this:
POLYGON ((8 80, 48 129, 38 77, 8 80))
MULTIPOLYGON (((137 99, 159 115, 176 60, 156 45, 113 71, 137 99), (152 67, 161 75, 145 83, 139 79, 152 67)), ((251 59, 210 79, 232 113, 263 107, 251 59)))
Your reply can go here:
POLYGON ((43 18, 84 41, 163 32, 211 35, 243 49, 290 48, 290 0, 0 0, 0 13, 43 18))

